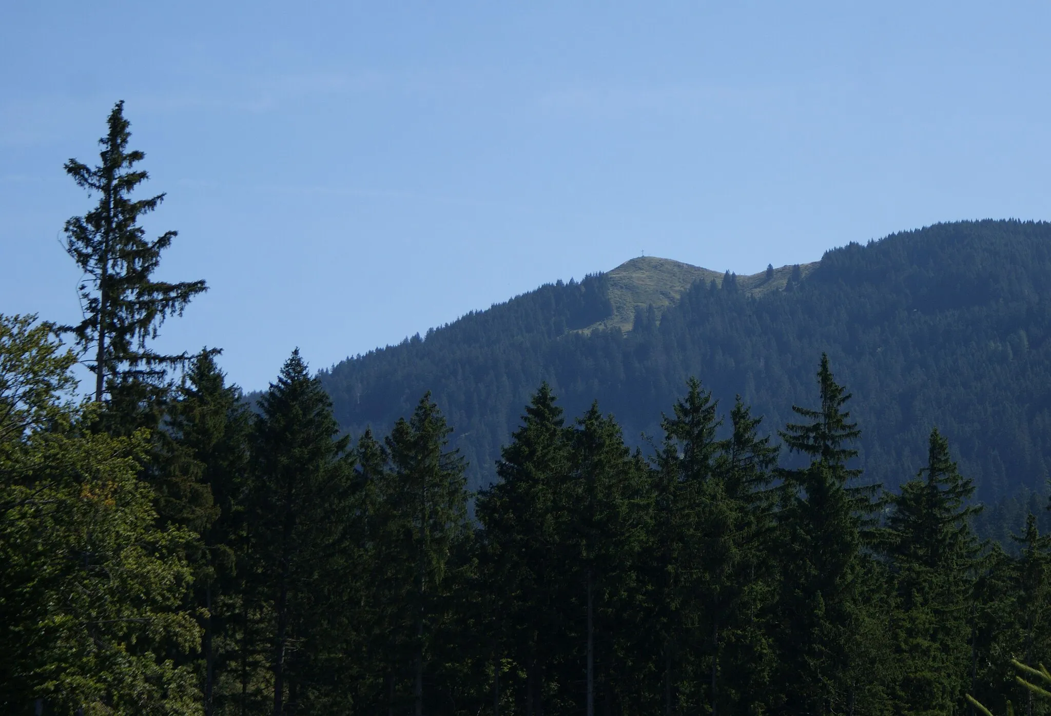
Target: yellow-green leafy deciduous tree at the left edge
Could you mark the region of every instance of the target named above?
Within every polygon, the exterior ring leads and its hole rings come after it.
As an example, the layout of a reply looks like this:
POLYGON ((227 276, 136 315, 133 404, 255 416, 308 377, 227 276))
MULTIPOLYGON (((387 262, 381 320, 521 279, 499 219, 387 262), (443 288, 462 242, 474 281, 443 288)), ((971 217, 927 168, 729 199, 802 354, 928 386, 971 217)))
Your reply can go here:
MULTIPOLYGON (((0 711, 197 714, 192 535, 160 529, 144 436, 86 431, 55 327, 0 315, 0 711)), ((39 713, 39 712, 38 712, 39 713)))

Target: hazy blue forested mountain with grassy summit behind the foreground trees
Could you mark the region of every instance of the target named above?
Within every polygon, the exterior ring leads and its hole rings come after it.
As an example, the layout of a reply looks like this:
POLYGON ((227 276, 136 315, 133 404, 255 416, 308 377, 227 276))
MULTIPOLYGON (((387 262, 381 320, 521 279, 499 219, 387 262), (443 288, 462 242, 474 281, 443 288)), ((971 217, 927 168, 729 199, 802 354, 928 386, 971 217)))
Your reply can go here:
POLYGON ((1043 492, 1051 465, 1051 225, 940 224, 754 276, 640 257, 557 281, 321 378, 353 435, 431 391, 471 463, 494 461, 541 380, 570 416, 593 400, 645 448, 688 376, 771 434, 812 406, 827 352, 862 429, 866 478, 915 475, 937 425, 983 499, 1043 492), (794 278, 795 275, 795 278, 794 278))

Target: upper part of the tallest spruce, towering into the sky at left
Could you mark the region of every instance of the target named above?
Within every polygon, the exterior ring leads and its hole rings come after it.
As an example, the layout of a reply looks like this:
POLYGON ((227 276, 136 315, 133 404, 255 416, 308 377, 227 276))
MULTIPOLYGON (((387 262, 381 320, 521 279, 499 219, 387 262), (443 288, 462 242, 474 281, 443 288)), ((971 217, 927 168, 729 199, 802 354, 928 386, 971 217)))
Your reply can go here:
POLYGON ((190 299, 206 290, 203 280, 172 283, 151 277, 176 232, 150 240, 139 220, 156 210, 165 195, 130 196, 148 174, 135 168, 145 154, 128 149, 130 132, 123 101, 114 106, 107 125, 106 135, 99 140, 102 151, 97 166, 77 160, 65 164, 77 186, 99 194, 95 209, 65 224, 66 251, 86 275, 80 287, 84 319, 69 330, 84 352, 94 353, 89 367, 95 373, 98 402, 122 383, 139 385, 131 391, 138 396, 143 383, 163 378, 165 366, 185 360, 185 354, 156 353, 147 341, 157 337, 165 318, 182 315, 190 299))

